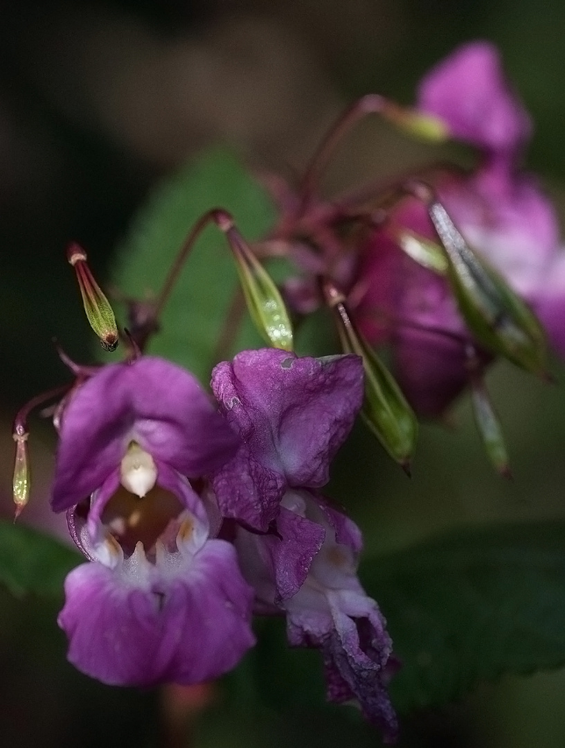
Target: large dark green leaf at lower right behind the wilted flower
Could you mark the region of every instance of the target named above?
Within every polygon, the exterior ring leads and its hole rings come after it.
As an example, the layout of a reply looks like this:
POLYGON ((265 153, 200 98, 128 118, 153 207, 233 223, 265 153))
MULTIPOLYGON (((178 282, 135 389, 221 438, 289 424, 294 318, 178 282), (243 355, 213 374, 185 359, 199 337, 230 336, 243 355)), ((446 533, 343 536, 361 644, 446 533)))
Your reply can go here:
POLYGON ((361 578, 403 663, 399 711, 565 663, 563 521, 458 530, 367 560, 361 578))

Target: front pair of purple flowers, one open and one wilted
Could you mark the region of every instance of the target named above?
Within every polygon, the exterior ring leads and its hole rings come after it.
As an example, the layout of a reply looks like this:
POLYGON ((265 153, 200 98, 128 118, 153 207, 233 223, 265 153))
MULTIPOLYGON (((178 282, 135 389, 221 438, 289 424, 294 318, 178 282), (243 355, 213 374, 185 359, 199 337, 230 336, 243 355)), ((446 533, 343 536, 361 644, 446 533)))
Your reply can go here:
POLYGON ((59 616, 72 663, 108 684, 200 683, 253 646, 253 609, 283 614, 291 645, 321 649, 329 698, 394 740, 359 530, 320 494, 362 403, 359 358, 242 352, 214 369, 215 404, 159 358, 84 379, 58 411, 52 494, 88 559, 59 616))

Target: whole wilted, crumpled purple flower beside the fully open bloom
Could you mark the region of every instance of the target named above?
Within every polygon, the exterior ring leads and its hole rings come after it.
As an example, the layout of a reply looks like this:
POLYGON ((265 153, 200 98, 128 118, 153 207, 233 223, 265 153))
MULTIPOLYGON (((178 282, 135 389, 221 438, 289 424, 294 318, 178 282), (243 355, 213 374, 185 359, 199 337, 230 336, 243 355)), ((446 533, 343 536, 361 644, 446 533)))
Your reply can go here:
POLYGON ((321 650, 328 698, 356 700, 390 741, 392 644, 356 577, 359 530, 317 489, 362 404, 355 356, 246 351, 212 374, 220 408, 244 442, 214 478, 258 613, 285 613, 288 641, 321 650))

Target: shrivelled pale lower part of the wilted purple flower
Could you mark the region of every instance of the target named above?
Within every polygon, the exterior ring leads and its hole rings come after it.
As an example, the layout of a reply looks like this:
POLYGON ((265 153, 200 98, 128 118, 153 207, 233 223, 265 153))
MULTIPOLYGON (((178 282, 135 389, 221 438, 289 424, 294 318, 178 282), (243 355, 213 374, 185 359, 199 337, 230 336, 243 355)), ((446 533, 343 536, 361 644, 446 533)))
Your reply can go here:
POLYGON ((283 506, 324 529, 324 542, 298 592, 281 600, 265 548, 268 536, 239 530, 236 547, 244 574, 256 589, 256 609, 286 614, 291 646, 317 647, 324 659, 327 698, 356 701, 363 716, 395 742, 398 723, 386 691, 397 663, 386 621, 356 577, 359 529, 310 491, 288 491, 283 506))

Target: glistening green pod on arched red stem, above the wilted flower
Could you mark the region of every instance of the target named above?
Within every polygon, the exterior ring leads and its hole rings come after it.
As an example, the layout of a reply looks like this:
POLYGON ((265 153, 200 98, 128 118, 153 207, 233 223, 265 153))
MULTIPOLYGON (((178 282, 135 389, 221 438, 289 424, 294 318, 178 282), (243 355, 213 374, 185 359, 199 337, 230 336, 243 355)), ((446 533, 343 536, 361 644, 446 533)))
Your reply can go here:
POLYGON ((215 220, 232 248, 247 309, 256 328, 269 345, 292 351, 292 325, 279 289, 235 228, 231 216, 218 210, 215 220))

